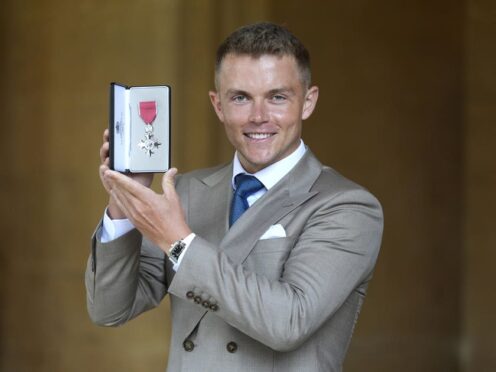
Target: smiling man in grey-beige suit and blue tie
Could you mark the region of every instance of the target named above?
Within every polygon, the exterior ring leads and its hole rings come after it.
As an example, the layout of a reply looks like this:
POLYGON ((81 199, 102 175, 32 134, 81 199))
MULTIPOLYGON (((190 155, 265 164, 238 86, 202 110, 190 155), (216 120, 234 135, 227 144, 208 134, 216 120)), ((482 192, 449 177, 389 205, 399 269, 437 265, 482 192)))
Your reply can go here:
POLYGON ((289 31, 234 32, 215 82, 210 99, 236 149, 227 166, 171 169, 157 194, 150 177, 108 169, 105 133, 110 199, 86 273, 90 316, 122 324, 168 293, 169 371, 339 371, 379 251, 381 207, 303 144, 319 91, 289 31))

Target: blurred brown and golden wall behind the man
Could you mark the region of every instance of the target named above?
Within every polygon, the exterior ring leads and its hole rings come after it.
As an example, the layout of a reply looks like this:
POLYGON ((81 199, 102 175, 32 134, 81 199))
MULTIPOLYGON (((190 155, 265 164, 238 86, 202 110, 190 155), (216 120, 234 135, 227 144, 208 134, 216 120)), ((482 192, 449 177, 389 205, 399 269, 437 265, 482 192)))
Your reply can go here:
POLYGON ((165 369, 168 301, 116 329, 86 313, 108 85, 172 86, 181 172, 229 161, 215 49, 260 20, 312 55, 306 144, 384 206, 345 371, 496 370, 494 0, 3 0, 1 371, 165 369))

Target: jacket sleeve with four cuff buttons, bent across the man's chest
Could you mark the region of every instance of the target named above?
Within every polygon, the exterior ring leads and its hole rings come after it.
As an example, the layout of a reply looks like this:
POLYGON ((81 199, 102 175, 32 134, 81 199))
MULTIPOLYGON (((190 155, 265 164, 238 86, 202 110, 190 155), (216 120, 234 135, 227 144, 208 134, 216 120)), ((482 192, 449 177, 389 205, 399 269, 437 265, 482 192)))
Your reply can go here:
POLYGON ((343 192, 317 203, 280 278, 234 264, 196 237, 169 293, 184 299, 191 291, 204 293, 233 327, 274 350, 293 350, 370 278, 381 236, 378 201, 364 190, 343 192))

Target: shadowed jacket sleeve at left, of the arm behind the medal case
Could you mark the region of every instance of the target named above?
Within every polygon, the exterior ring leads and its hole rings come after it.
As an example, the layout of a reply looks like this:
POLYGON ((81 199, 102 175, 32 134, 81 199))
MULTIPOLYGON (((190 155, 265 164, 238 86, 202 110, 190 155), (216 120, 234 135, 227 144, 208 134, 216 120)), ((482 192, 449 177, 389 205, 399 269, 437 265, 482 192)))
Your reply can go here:
POLYGON ((86 268, 87 307, 94 323, 116 326, 160 303, 169 260, 136 229, 108 243, 100 242, 100 229, 86 268))

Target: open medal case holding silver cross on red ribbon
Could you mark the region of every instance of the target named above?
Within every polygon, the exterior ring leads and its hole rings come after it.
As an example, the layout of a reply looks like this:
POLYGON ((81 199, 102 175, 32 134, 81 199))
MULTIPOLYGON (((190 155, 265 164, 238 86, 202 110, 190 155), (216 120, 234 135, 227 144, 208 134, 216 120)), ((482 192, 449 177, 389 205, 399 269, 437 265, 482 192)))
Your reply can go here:
POLYGON ((110 169, 123 173, 157 173, 170 168, 168 85, 110 84, 110 169))

